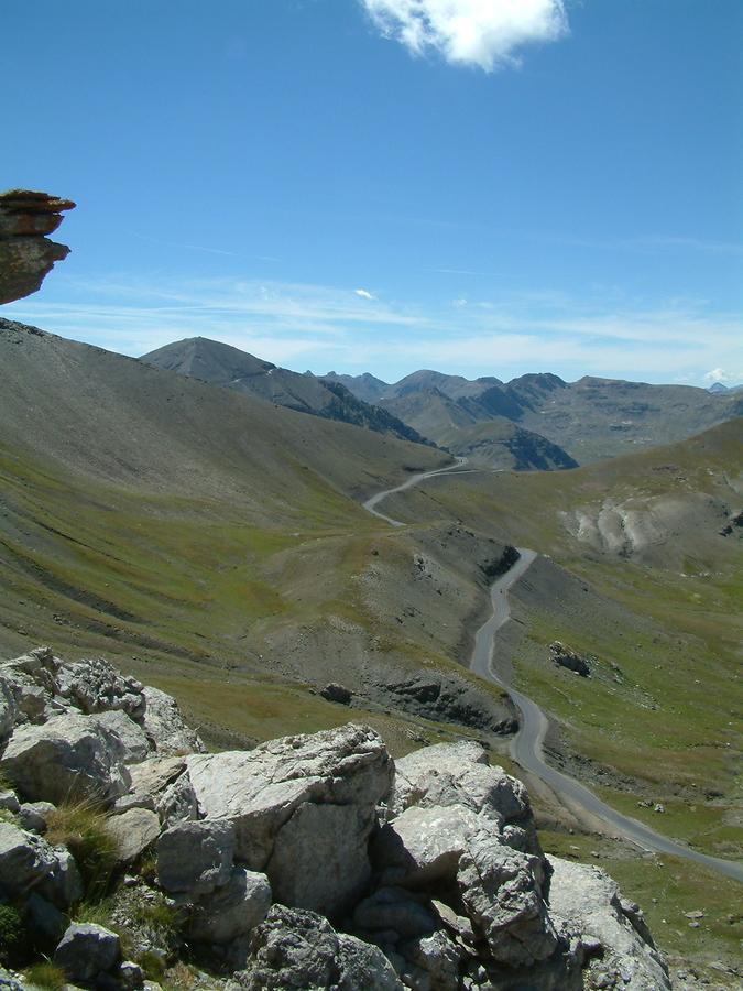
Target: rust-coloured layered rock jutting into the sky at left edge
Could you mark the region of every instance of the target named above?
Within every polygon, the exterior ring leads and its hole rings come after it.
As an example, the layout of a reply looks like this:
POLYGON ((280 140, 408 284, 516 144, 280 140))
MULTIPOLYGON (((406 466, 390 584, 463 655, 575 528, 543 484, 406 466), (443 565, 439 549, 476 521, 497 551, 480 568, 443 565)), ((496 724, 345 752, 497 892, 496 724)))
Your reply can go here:
POLYGON ((10 189, 0 193, 0 303, 22 300, 41 288, 54 263, 69 254, 50 235, 62 224, 72 199, 47 193, 10 189))

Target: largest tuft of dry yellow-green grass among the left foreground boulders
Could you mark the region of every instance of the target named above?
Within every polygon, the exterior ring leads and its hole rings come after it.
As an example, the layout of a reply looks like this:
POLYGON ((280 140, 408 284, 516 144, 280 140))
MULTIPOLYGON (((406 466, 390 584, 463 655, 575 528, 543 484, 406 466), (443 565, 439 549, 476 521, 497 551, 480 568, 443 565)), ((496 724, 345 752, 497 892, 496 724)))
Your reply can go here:
POLYGON ((62 803, 47 819, 44 838, 64 845, 73 854, 87 901, 106 894, 118 862, 117 842, 106 823, 106 814, 90 801, 62 803))

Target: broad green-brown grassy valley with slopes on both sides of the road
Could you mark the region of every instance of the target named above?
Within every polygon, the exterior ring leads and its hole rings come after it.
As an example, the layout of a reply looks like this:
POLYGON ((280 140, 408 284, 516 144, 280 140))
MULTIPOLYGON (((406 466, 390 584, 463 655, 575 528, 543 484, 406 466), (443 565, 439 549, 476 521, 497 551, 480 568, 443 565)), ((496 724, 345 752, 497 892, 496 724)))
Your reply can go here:
MULTIPOLYGON (((349 719, 396 755, 485 741, 556 852, 590 843, 640 892, 636 848, 514 749, 514 686, 546 714, 553 773, 671 840, 679 912, 711 904, 673 841, 740 857, 740 421, 514 472, 11 322, 0 348, 7 655, 106 656, 217 749, 349 719), (512 545, 538 557, 510 588, 488 684, 469 658, 512 545), (557 640, 589 678, 549 661, 557 640)), ((715 923, 698 960, 731 933, 715 923)))

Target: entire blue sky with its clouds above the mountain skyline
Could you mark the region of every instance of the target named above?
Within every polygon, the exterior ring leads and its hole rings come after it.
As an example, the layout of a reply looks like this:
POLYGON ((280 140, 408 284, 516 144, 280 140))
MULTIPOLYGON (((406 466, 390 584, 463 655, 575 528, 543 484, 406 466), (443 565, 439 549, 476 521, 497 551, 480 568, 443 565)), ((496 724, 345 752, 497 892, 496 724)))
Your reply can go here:
POLYGON ((742 34, 740 0, 3 0, 0 188, 78 207, 2 315, 389 381, 743 381, 742 34))

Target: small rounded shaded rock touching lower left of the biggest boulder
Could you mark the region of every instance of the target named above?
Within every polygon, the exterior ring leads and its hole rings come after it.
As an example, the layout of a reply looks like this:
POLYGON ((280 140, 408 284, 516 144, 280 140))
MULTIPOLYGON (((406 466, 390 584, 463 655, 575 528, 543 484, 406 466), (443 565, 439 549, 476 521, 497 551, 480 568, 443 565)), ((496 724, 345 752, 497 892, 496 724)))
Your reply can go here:
POLYGON ((227 884, 194 910, 190 937, 223 946, 255 928, 270 907, 271 885, 265 874, 233 868, 227 884))

